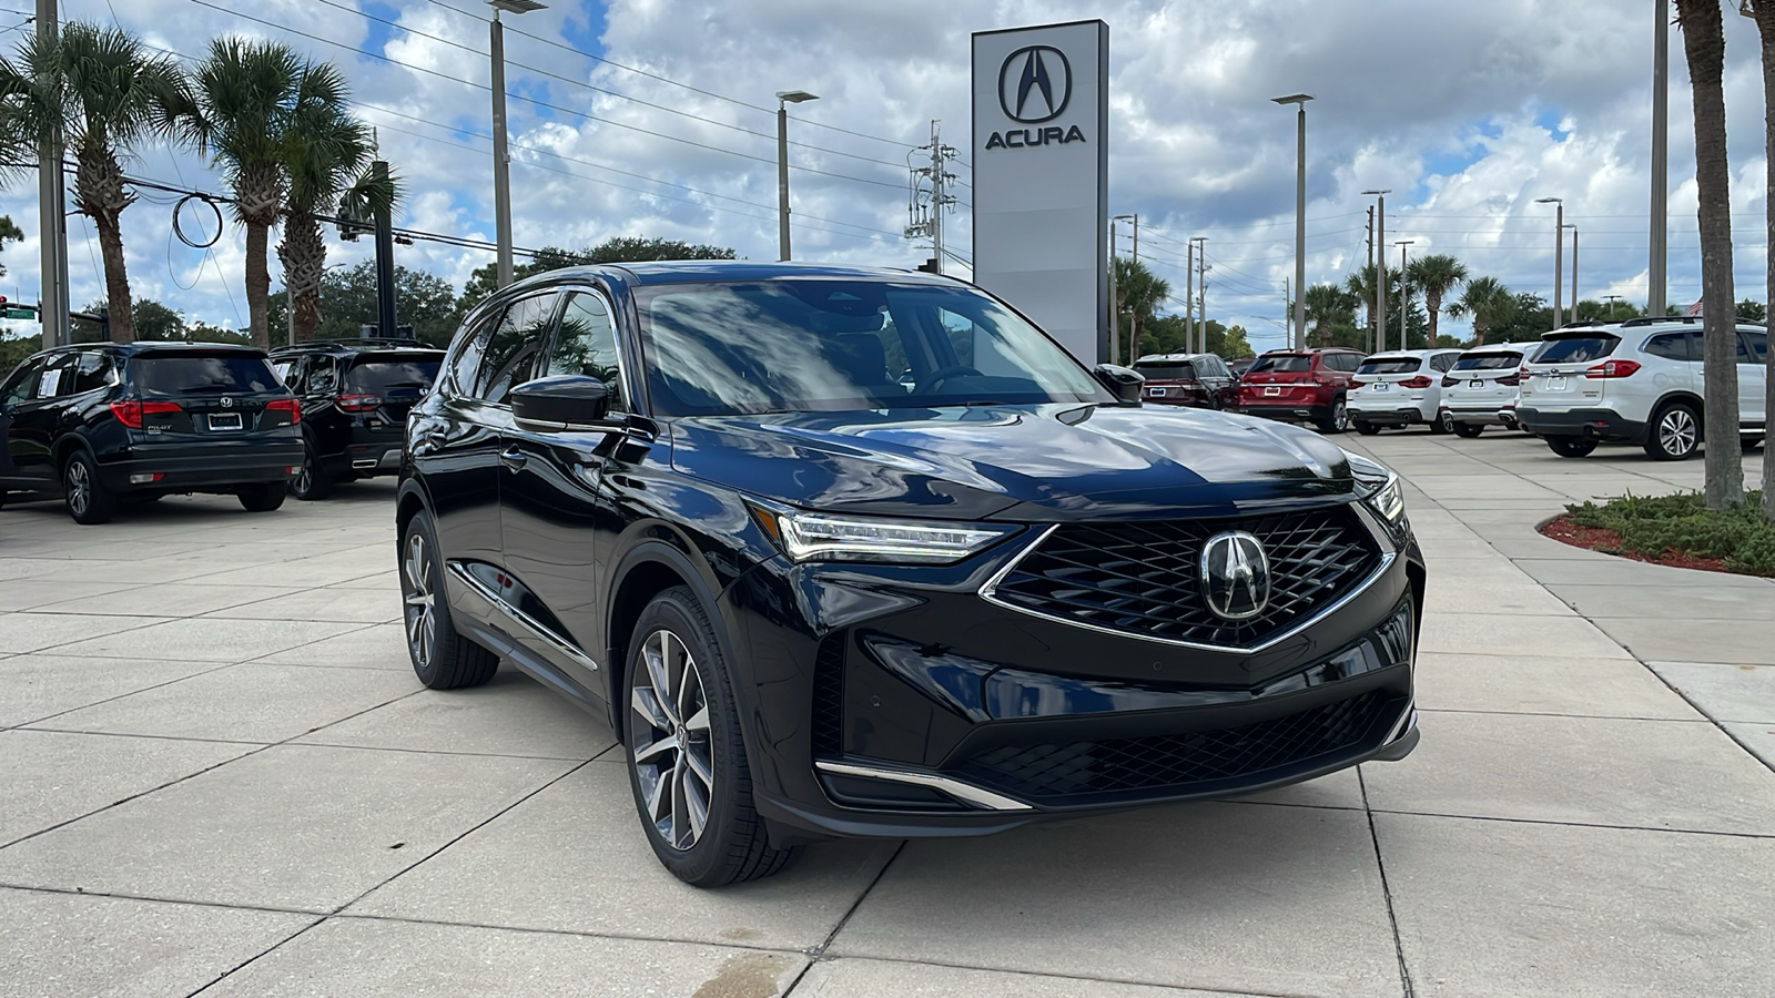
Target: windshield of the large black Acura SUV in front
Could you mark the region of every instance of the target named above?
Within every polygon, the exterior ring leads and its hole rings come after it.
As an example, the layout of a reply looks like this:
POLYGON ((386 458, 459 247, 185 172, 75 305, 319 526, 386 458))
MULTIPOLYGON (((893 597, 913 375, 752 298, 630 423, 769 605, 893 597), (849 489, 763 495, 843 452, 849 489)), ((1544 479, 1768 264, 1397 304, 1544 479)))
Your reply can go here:
POLYGON ((635 305, 660 416, 1111 401, 1054 341, 969 288, 659 284, 635 305))

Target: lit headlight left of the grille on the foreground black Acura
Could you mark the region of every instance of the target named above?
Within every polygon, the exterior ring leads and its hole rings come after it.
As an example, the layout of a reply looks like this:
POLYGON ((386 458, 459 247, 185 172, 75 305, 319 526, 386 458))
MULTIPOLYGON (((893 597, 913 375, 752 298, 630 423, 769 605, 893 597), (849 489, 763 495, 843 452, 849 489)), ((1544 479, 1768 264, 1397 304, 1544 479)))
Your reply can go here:
POLYGON ((790 561, 916 561, 948 565, 1017 527, 832 517, 753 504, 753 517, 790 561))

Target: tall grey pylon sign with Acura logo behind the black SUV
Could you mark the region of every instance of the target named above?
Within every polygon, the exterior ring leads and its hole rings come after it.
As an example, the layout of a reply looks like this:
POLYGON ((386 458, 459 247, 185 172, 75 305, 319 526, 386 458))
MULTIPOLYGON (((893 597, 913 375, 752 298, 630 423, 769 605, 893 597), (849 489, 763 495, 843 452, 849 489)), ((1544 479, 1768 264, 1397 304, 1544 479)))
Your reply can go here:
POLYGON ((974 32, 974 282, 1109 359, 1109 25, 974 32))

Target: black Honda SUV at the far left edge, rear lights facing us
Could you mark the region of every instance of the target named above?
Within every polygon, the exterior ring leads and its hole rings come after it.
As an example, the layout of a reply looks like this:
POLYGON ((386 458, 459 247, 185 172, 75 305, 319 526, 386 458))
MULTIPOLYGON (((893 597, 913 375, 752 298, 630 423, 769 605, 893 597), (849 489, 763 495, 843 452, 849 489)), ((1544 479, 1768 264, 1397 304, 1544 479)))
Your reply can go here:
POLYGON ((57 494, 82 524, 119 499, 174 492, 284 504, 302 417, 264 352, 213 343, 94 343, 25 359, 0 385, 0 499, 57 494))

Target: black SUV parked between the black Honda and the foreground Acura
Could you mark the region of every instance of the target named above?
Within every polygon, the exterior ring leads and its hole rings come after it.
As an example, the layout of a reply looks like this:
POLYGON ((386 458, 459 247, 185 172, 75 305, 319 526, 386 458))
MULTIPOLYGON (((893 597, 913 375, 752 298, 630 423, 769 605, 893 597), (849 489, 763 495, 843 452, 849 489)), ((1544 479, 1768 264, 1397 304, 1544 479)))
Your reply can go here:
POLYGON ((296 499, 325 499, 353 478, 396 474, 406 410, 431 389, 444 352, 417 339, 330 339, 272 352, 272 366, 302 400, 296 499))

